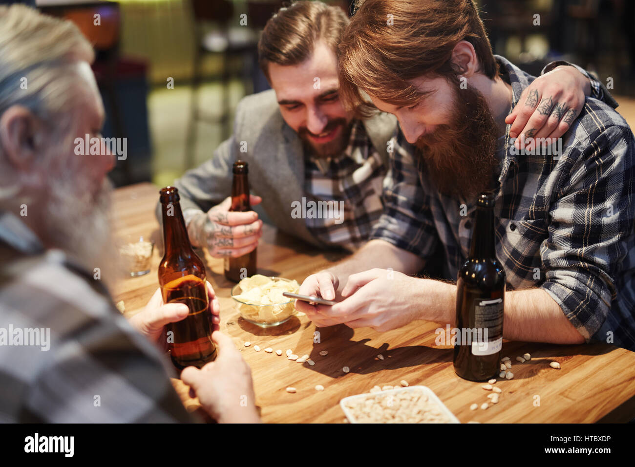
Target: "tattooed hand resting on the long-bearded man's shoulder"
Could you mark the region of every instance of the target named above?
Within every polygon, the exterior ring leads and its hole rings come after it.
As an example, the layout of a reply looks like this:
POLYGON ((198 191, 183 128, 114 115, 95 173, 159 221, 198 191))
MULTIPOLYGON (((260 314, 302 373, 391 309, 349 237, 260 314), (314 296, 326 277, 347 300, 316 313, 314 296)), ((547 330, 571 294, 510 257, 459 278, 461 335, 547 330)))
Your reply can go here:
POLYGON ((559 66, 536 78, 505 119, 512 125, 509 136, 518 138, 514 146, 531 150, 538 138, 554 142, 570 128, 588 95, 591 83, 575 67, 559 66))

